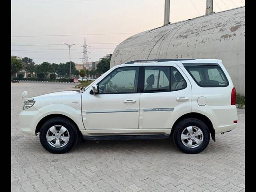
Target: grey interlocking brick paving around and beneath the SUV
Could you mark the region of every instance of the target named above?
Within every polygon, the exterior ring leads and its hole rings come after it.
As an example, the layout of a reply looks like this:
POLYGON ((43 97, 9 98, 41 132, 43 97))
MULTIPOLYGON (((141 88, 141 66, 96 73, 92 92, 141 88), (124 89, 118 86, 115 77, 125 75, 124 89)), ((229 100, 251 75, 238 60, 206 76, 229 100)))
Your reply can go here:
POLYGON ((216 135, 200 154, 183 154, 172 141, 86 141, 66 154, 50 154, 38 136, 18 129, 21 93, 74 89, 74 84, 12 83, 12 192, 242 192, 245 191, 245 110, 238 128, 216 135))

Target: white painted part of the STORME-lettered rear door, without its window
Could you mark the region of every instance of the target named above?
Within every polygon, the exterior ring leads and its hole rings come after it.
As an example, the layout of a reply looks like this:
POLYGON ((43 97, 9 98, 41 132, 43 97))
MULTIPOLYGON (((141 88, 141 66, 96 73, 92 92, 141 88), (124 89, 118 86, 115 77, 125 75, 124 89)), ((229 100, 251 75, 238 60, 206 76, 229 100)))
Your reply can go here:
MULTIPOLYGON (((156 63, 143 63, 142 66, 155 66, 156 63)), ((176 62, 163 62, 160 66, 173 66, 178 69, 176 62)), ((170 129, 183 114, 191 112, 192 89, 188 78, 180 71, 186 80, 185 89, 168 92, 152 92, 140 94, 140 129, 170 129), (178 97, 188 100, 178 102, 178 97)))

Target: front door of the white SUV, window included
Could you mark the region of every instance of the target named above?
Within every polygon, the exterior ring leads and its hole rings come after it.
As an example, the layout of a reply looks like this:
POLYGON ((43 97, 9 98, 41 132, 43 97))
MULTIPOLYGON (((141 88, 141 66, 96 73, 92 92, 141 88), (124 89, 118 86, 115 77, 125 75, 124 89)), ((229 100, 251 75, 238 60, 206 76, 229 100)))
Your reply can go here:
POLYGON ((139 64, 116 68, 98 83, 99 94, 82 96, 86 129, 138 129, 139 68, 139 64))

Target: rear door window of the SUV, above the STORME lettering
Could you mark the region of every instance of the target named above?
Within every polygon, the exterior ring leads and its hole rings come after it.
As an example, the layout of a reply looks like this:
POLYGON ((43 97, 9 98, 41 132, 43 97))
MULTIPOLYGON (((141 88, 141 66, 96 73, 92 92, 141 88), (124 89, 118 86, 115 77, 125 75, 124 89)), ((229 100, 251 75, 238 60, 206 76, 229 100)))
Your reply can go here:
POLYGON ((176 91, 187 84, 180 72, 170 66, 145 66, 144 92, 176 91))

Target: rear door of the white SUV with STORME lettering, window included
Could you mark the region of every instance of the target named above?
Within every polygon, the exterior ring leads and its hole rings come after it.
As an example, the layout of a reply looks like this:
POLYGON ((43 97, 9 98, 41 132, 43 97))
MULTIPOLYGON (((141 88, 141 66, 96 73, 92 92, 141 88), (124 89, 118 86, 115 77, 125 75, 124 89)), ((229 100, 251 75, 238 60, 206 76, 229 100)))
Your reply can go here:
POLYGON ((139 128, 170 129, 175 119, 191 112, 191 84, 175 62, 142 66, 139 128))

